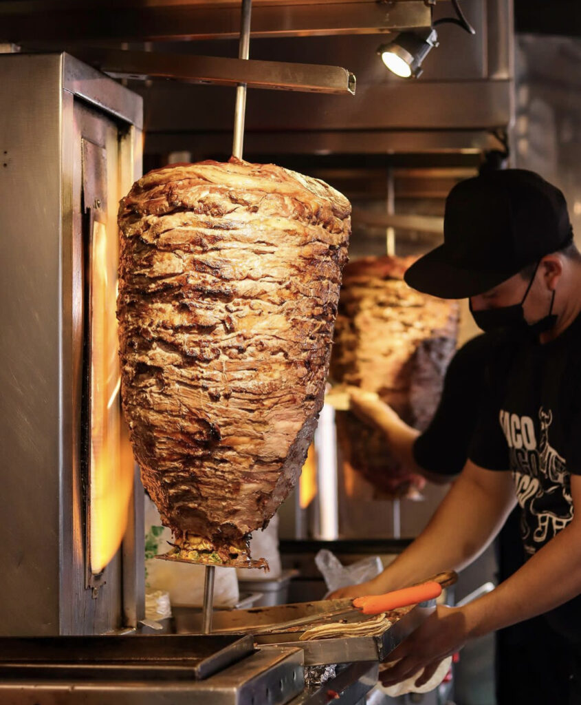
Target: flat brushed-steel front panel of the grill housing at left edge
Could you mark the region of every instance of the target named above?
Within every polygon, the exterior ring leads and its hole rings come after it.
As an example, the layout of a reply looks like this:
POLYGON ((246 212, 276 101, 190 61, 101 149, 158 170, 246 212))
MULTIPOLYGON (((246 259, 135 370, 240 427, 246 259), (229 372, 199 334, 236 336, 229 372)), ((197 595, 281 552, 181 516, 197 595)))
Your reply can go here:
POLYGON ((58 633, 61 66, 0 56, 0 632, 14 635, 58 633))

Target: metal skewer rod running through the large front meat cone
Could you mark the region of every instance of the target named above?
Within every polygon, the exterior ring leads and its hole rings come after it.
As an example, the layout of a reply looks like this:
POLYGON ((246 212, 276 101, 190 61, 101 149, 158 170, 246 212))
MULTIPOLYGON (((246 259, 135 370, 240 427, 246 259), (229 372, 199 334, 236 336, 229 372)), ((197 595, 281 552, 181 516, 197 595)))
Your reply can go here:
MULTIPOLYGON (((238 45, 238 58, 248 59, 250 53, 250 14, 252 0, 242 0, 242 13, 240 18, 240 40, 238 45)), ((236 87, 236 107, 234 114, 234 140, 232 141, 232 155, 242 159, 244 145, 244 118, 246 116, 246 83, 239 83, 236 87)), ((202 632, 210 634, 212 631, 212 615, 214 606, 214 574, 215 566, 206 565, 204 572, 204 612, 202 615, 202 632)))

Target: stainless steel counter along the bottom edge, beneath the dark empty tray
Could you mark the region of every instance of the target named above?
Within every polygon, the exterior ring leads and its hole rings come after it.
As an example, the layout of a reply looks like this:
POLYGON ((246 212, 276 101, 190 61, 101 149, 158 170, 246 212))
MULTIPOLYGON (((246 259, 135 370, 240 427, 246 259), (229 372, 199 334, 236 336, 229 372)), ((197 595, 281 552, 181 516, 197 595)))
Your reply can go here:
POLYGON ((305 685, 303 652, 287 646, 261 646, 252 656, 197 681, 80 679, 65 668, 51 678, 24 678, 21 670, 23 678, 0 680, 3 705, 326 705, 331 700, 357 705, 377 683, 378 664, 339 666, 323 685, 305 685))

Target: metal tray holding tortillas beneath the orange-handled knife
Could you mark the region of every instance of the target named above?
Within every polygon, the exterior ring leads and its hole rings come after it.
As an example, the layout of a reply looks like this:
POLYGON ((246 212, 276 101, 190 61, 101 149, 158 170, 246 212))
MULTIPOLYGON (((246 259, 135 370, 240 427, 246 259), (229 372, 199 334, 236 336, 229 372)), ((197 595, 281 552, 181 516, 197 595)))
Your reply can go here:
MULTIPOLYGON (((307 615, 317 613, 324 615, 340 605, 340 601, 322 600, 219 612, 214 614, 212 627, 215 631, 236 628, 241 632, 251 632, 251 630, 258 632, 261 627, 278 625, 306 617, 307 615)), ((358 661, 385 661, 385 658, 396 646, 401 644, 435 610, 435 605, 435 600, 416 605, 391 627, 387 627, 384 632, 373 636, 338 637, 301 642, 299 639, 303 630, 295 627, 294 630, 278 634, 255 635, 254 639, 258 645, 299 646, 299 648, 304 650, 305 666, 325 666, 330 663, 356 663, 358 661)), ((200 615, 180 611, 179 614, 174 616, 175 631, 178 634, 200 630, 200 615)), ((357 615, 354 615, 347 619, 351 621, 357 618, 357 615)))

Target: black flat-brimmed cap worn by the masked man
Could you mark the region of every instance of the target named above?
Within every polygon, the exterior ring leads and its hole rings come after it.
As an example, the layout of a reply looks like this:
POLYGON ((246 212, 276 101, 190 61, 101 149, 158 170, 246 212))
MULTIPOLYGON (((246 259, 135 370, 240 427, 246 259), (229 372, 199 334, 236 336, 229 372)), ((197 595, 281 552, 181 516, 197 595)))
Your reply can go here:
POLYGON ((409 286, 463 299, 497 286, 573 240, 563 193, 525 169, 456 184, 446 199, 444 244, 406 271, 409 286))

